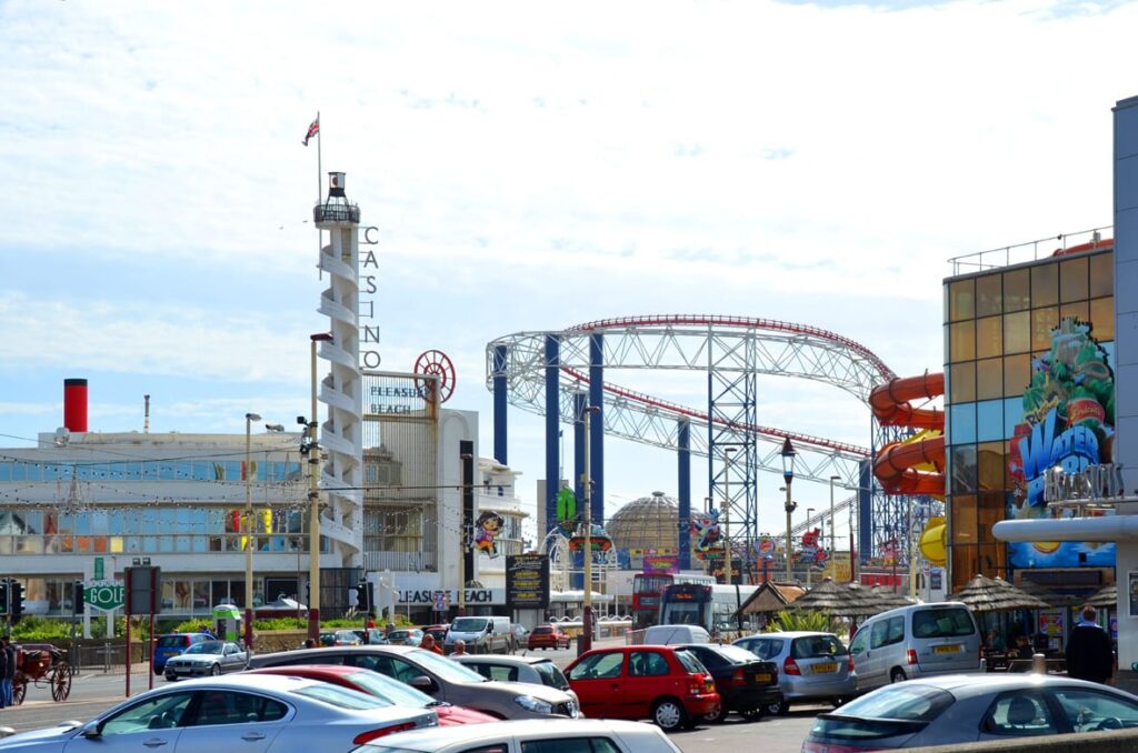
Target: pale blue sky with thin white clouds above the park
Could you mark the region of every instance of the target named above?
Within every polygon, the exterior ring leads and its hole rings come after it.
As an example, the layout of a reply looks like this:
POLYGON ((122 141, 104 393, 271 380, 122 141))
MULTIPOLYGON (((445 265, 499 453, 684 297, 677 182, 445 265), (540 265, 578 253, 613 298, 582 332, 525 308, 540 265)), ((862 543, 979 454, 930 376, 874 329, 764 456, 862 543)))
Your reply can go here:
MULTIPOLYGON (((949 258, 1111 224, 1133 28, 1135 3, 1047 0, 0 0, 0 447, 63 423, 67 378, 93 431, 141 431, 143 395, 151 431, 307 413, 318 110, 378 229, 381 367, 445 351, 483 455, 513 332, 767 317, 939 371, 949 258)), ((687 378, 620 383, 700 407, 687 378)), ((844 392, 759 395, 765 425, 869 445, 844 392)), ((530 503, 542 437, 511 409, 530 503)), ((676 494, 669 453, 605 455, 609 514, 676 494)))

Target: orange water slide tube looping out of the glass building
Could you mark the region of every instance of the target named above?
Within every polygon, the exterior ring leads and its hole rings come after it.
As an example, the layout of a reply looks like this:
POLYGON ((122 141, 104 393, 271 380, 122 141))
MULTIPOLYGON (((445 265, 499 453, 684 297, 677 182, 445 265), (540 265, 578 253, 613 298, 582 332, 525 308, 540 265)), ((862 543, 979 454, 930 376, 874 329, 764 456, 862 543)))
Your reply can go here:
MULTIPOLYGON (((942 432, 945 412, 914 407, 945 394, 945 374, 893 379, 869 394, 874 417, 885 427, 912 427, 942 432)), ((873 460, 873 474, 885 494, 945 495, 945 437, 926 437, 888 445, 873 460), (923 470, 931 469, 931 470, 923 470)))

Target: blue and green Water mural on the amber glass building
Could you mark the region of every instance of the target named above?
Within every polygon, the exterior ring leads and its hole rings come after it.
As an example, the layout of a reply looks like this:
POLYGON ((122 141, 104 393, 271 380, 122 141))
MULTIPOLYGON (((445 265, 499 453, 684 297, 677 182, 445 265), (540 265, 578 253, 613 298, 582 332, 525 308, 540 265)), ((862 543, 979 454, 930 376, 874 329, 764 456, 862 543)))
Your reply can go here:
MULTIPOLYGON (((1059 465, 1075 473, 1111 462, 1114 441, 1114 375, 1108 354, 1090 337, 1090 325, 1064 318, 1052 330, 1052 348, 1031 364, 1023 415, 1008 457, 1008 516, 1046 518, 1044 474, 1059 465)), ((1114 566, 1114 544, 1009 543, 1014 568, 1114 566), (1085 560, 1080 562, 1080 554, 1085 560)))

